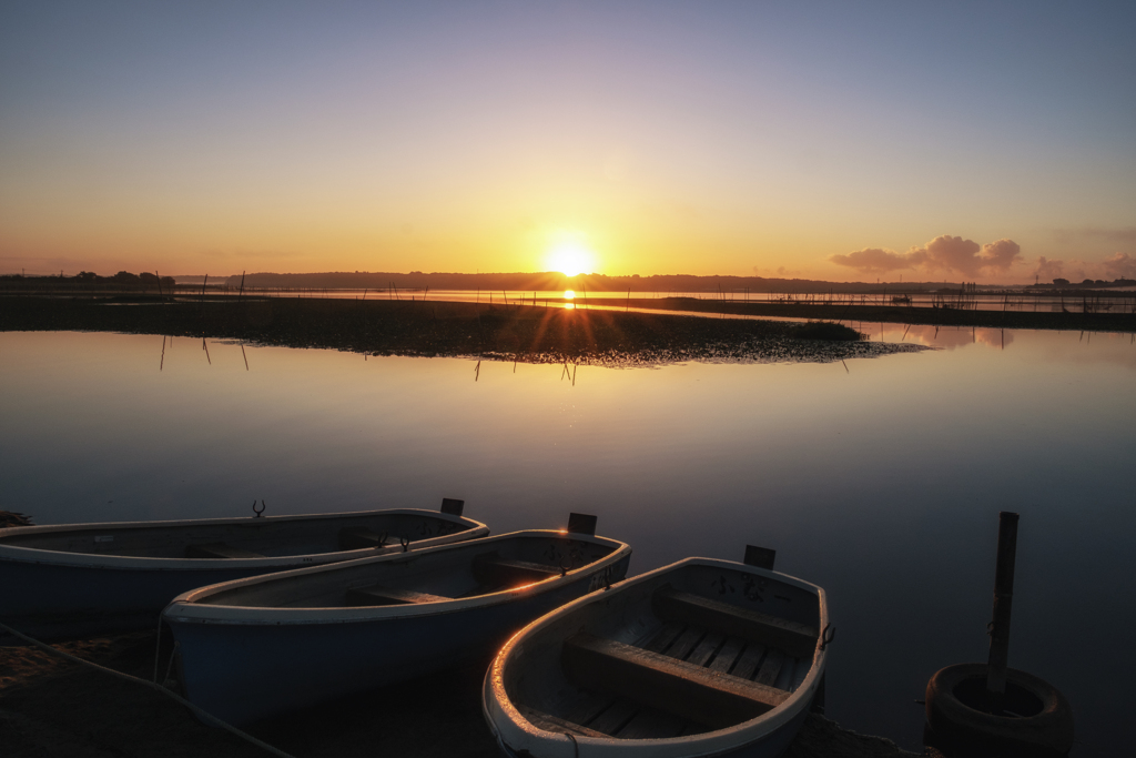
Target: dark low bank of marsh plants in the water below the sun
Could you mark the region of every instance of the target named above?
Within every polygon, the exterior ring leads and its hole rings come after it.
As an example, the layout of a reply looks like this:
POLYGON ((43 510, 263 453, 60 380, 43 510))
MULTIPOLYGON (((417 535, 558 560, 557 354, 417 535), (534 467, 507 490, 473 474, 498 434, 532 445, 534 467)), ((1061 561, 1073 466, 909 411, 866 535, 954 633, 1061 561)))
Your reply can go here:
POLYGON ((0 298, 0 331, 234 339, 369 355, 654 365, 834 361, 919 350, 836 324, 423 300, 0 298))

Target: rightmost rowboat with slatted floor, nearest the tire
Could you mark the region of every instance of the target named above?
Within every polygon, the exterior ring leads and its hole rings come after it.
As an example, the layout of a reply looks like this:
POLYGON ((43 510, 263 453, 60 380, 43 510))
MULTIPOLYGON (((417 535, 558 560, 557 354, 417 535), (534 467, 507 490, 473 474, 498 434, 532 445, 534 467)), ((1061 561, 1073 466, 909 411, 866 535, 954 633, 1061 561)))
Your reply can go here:
POLYGON ((821 686, 834 630, 824 590, 768 565, 687 558, 529 624, 485 677, 502 751, 782 755, 821 686))

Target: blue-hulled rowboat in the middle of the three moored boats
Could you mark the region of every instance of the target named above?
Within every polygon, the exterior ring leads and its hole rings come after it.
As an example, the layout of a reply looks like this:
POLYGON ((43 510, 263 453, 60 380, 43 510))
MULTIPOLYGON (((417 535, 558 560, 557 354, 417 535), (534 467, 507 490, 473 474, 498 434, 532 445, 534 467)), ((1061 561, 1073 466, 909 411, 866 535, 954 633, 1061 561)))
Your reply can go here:
POLYGON ((243 724, 485 661, 518 628, 621 580, 630 548, 513 532, 186 592, 162 613, 185 697, 243 724))

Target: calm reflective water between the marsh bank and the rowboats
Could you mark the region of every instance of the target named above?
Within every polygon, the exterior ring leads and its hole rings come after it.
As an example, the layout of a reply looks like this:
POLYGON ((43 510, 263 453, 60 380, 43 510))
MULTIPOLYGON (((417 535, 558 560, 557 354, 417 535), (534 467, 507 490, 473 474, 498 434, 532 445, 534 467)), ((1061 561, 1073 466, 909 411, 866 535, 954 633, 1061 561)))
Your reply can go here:
POLYGON ((0 333, 0 508, 50 524, 457 497, 494 533, 595 513, 633 572, 772 547, 829 592, 829 715, 910 748, 930 674, 985 660, 997 511, 1017 510, 1011 666, 1072 701, 1074 755, 1130 756, 1131 335, 863 328, 941 349, 580 366, 574 384, 558 366, 0 333))

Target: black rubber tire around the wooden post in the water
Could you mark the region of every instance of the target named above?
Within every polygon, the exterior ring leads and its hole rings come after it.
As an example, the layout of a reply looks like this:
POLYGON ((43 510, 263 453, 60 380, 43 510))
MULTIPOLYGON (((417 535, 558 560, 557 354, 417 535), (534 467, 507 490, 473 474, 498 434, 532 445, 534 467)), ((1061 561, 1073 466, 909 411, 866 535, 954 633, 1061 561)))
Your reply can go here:
POLYGON ((967 680, 986 680, 986 664, 957 664, 927 683, 927 724, 935 734, 967 742, 1063 756, 1072 748, 1072 708, 1056 688, 1014 668, 1006 681, 1033 693, 1042 710, 1022 718, 994 716, 967 706, 955 689, 967 680))

